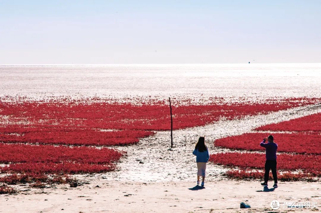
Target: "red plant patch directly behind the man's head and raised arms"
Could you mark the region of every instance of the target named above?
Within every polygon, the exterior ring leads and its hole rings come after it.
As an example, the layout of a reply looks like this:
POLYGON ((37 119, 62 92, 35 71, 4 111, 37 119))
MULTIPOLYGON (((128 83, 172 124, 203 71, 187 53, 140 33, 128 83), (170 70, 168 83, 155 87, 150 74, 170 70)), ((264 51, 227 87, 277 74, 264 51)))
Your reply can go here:
MULTIPOLYGON (((267 133, 245 133, 215 140, 215 146, 229 149, 245 149, 265 151, 259 143, 267 133)), ((274 142, 278 144, 278 152, 293 152, 299 154, 321 154, 321 135, 273 133, 274 142)))

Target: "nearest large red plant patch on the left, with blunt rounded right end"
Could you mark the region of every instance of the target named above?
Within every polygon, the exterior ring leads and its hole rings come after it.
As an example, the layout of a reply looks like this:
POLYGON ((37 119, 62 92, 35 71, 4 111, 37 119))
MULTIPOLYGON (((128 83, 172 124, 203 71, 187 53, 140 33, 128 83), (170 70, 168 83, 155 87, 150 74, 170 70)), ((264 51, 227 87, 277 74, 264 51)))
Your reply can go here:
POLYGON ((122 156, 108 148, 65 147, 50 145, 1 144, 1 173, 91 173, 106 172, 115 168, 122 156))

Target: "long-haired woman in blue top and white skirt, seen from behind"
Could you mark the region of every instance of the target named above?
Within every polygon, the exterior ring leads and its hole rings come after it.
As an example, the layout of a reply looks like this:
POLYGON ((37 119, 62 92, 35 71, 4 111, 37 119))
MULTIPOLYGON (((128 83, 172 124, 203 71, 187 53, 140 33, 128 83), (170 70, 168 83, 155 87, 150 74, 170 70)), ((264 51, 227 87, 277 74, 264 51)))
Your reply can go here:
POLYGON ((197 185, 200 184, 200 176, 202 176, 201 186, 204 186, 206 163, 208 162, 208 159, 210 159, 210 154, 207 146, 205 145, 204 137, 200 137, 198 139, 193 151, 193 155, 196 155, 197 185))

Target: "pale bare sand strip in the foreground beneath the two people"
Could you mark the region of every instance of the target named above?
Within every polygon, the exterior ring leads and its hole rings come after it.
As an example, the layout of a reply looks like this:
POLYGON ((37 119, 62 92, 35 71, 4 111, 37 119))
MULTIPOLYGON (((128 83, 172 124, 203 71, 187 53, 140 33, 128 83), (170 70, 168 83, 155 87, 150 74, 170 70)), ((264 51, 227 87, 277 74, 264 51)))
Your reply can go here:
POLYGON ((98 180, 77 188, 37 189, 31 194, 1 195, 0 212, 313 212, 284 208, 283 203, 318 202, 321 183, 280 182, 264 190, 258 181, 210 180, 204 188, 191 182, 141 183, 98 180), (96 185, 99 187, 95 187, 96 185), (281 207, 272 210, 272 200, 281 207), (246 201, 250 209, 240 209, 246 201))

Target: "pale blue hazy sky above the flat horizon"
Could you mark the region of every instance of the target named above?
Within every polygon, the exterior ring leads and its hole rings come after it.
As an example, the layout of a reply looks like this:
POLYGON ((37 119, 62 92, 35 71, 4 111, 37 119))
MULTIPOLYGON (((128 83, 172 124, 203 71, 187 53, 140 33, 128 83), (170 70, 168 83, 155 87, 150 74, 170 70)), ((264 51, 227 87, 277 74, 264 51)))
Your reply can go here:
POLYGON ((0 64, 321 63, 319 0, 0 0, 0 64))

